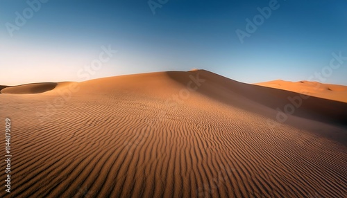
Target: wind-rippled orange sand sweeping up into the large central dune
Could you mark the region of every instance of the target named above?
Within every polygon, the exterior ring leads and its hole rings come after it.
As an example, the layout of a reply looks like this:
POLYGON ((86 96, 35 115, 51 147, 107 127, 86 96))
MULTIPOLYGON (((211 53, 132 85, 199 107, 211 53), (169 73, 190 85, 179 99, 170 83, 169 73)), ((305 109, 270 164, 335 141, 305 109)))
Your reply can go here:
POLYGON ((1 90, 0 197, 347 196, 346 102, 310 97, 276 122, 298 93, 208 71, 50 86, 1 90))

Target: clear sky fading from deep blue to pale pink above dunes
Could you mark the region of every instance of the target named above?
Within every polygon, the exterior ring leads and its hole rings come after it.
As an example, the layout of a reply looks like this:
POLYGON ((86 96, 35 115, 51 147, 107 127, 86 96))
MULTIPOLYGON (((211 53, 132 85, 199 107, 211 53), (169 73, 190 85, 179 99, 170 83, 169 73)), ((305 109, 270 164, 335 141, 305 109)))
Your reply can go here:
POLYGON ((194 68, 347 85, 347 1, 2 0, 0 67, 7 85, 194 68))

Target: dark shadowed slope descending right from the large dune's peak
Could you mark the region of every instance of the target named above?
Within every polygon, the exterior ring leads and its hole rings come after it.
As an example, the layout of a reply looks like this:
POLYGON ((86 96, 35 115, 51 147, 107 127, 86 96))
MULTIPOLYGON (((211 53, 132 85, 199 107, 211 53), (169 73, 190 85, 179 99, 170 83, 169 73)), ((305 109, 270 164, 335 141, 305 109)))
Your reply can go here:
POLYGON ((276 114, 278 114, 277 109, 279 108, 282 112, 286 112, 285 110, 288 110, 287 112, 289 113, 293 112, 292 115, 294 116, 319 120, 321 122, 332 122, 341 125, 347 124, 346 102, 326 100, 313 96, 306 96, 303 99, 300 93, 237 82, 211 73, 210 71, 199 70, 190 73, 167 72, 170 78, 183 85, 191 80, 189 75, 193 73, 198 73, 199 78, 205 80, 205 82, 201 82, 203 84, 201 89, 197 90, 199 93, 203 93, 205 96, 229 105, 238 105, 244 109, 256 111, 273 118, 276 118, 276 114), (273 111, 271 114, 269 114, 269 111, 266 114, 264 109, 259 109, 259 107, 251 105, 250 102, 244 99, 257 102, 271 109, 276 109, 276 114, 273 114, 273 111), (286 105, 287 108, 285 108, 286 105), (289 105, 291 107, 288 107, 289 105))

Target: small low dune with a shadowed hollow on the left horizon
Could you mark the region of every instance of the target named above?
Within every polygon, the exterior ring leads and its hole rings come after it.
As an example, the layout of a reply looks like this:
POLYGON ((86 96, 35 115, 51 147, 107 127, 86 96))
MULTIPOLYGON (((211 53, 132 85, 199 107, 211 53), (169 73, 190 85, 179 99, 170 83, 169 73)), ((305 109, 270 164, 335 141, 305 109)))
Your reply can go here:
POLYGON ((22 84, 18 86, 5 87, 1 89, 1 93, 10 94, 33 94, 33 93, 43 93, 46 91, 51 91, 56 88, 58 83, 56 82, 44 82, 44 83, 33 83, 33 84, 22 84))

